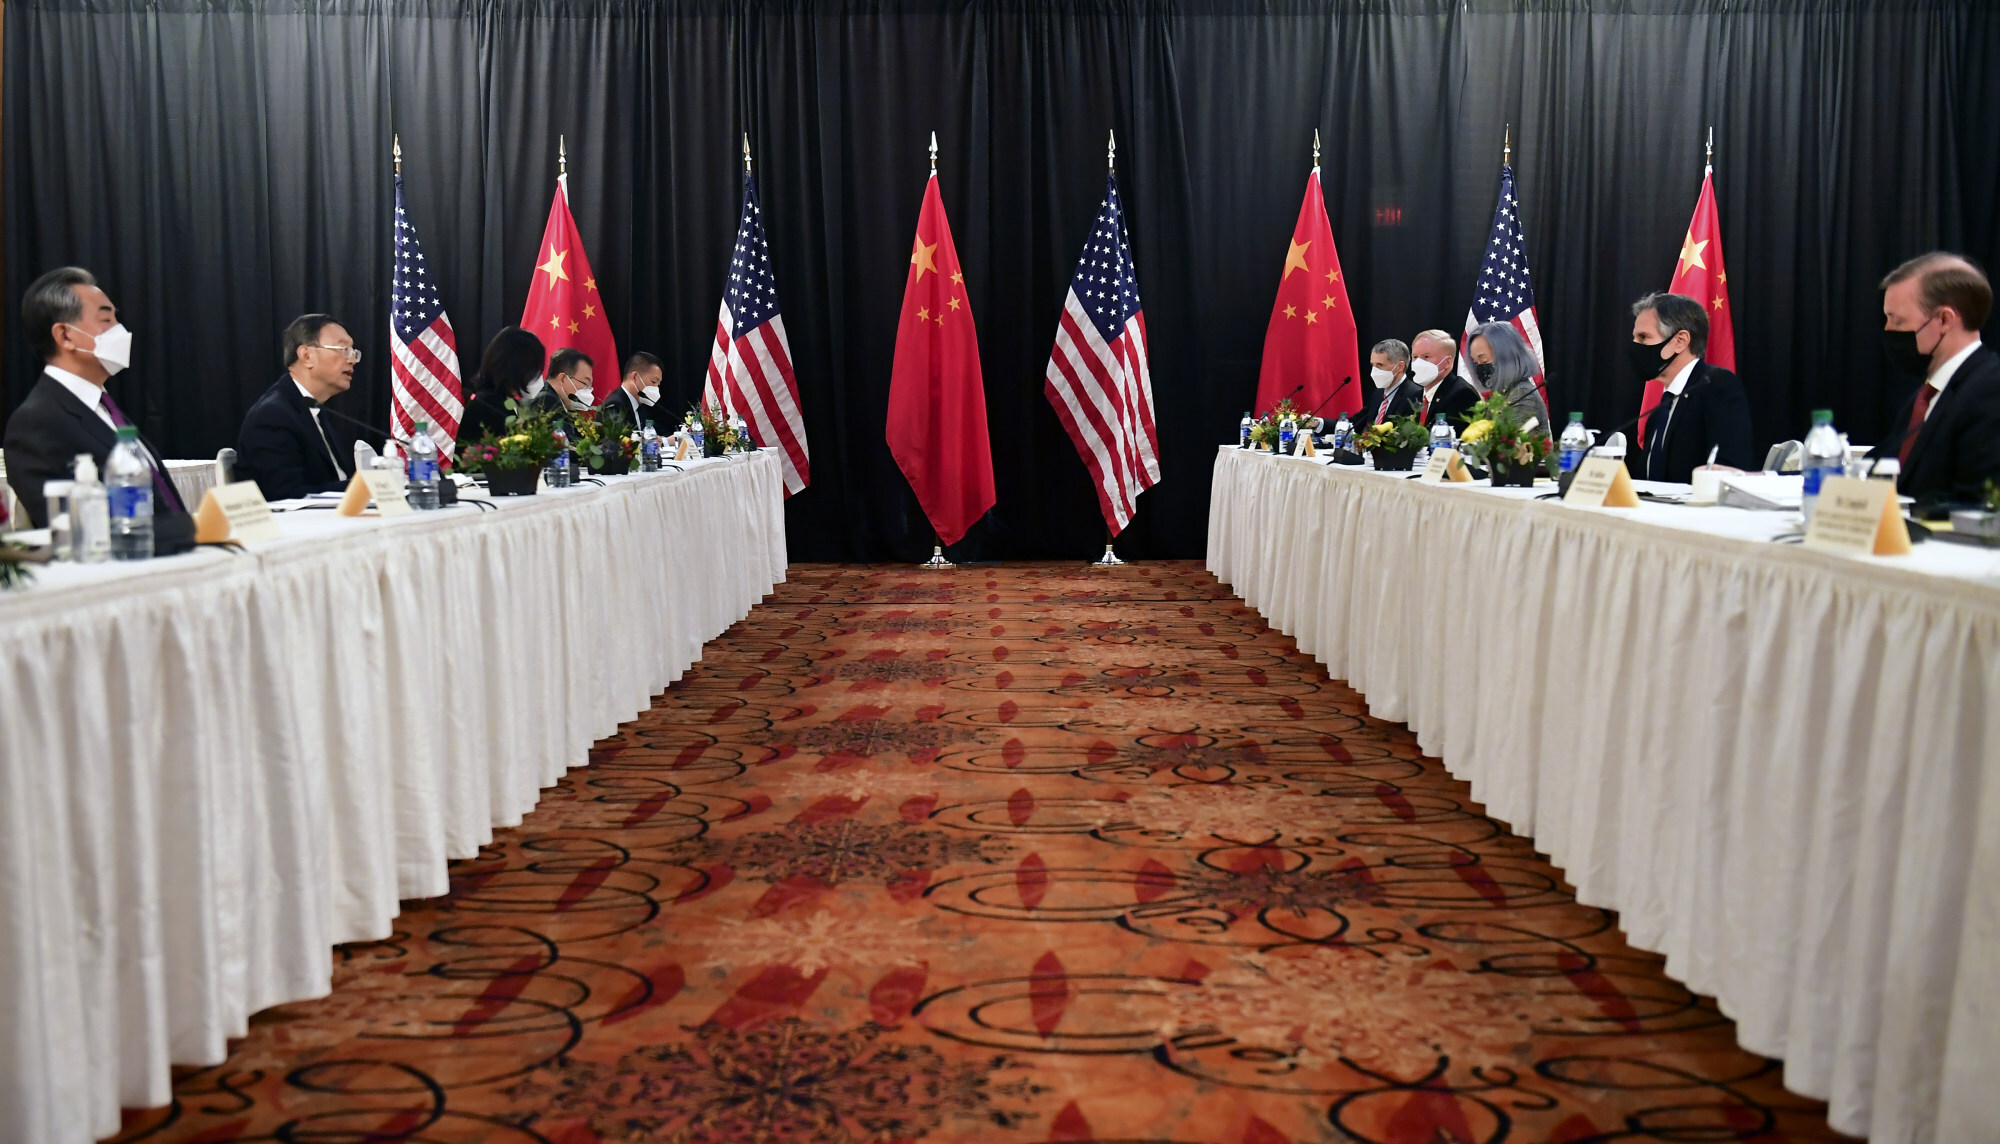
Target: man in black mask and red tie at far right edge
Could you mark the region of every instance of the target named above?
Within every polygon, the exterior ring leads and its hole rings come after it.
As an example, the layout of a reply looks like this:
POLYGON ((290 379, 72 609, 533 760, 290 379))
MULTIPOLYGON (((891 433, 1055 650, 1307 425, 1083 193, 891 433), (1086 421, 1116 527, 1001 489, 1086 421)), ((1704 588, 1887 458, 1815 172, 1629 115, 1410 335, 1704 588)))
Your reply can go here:
POLYGON ((1986 274, 1956 254, 1912 258, 1882 280, 1882 348, 1924 376, 1882 448, 1918 502, 1978 502, 2000 480, 2000 354, 1980 344, 1992 308, 1986 274))

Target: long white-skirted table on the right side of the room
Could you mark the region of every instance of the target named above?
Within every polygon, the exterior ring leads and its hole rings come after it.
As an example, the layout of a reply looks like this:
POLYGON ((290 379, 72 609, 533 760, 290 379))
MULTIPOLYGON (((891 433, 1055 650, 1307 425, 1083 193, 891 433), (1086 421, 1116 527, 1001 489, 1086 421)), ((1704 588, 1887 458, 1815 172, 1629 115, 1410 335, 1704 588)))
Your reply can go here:
POLYGON ((2000 550, 1548 490, 1224 448, 1208 568, 1834 1128, 2000 1140, 2000 550))

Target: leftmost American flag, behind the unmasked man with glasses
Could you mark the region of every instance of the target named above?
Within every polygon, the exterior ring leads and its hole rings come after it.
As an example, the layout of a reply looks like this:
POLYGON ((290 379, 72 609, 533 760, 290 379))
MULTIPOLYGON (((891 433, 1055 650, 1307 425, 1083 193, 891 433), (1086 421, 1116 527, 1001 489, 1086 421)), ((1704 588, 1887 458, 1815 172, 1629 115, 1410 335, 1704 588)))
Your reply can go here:
POLYGON ((458 378, 458 338, 438 298, 438 282, 424 266, 416 224, 402 202, 402 174, 396 174, 396 270, 388 284, 390 332, 390 418, 400 436, 416 422, 432 424, 430 438, 452 456, 464 392, 458 378))

